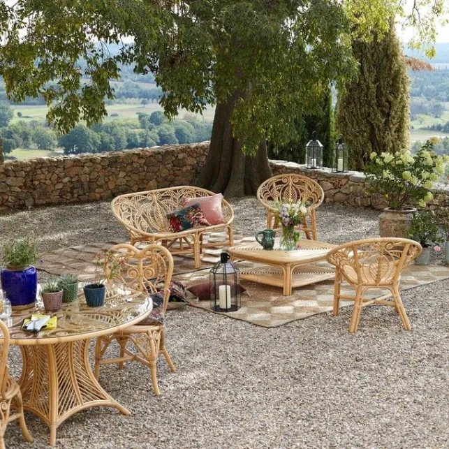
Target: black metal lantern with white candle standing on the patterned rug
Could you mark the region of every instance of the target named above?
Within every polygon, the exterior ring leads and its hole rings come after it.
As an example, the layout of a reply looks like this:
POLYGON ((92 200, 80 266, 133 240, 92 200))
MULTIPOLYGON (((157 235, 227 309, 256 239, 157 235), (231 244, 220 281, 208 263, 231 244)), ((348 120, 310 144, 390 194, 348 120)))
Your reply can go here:
POLYGON ((240 272, 228 253, 221 253, 220 262, 210 270, 210 301, 217 312, 240 309, 240 272))

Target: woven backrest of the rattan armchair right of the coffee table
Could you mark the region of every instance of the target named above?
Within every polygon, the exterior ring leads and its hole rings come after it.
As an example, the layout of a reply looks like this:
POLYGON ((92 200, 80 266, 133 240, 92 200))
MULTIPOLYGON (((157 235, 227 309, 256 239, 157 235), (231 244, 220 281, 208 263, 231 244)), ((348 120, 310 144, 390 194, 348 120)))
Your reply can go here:
POLYGON ((375 238, 342 244, 327 253, 327 261, 342 274, 351 270, 359 284, 382 285, 396 282, 421 250, 421 245, 413 240, 375 238))

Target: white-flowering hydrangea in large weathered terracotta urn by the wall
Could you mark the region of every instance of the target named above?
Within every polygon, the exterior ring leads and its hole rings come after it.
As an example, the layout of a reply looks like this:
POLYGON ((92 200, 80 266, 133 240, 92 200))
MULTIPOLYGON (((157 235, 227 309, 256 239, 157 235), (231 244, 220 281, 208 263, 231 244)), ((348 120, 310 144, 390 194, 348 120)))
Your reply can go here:
POLYGON ((371 153, 365 175, 371 191, 380 193, 388 202, 379 216, 381 237, 406 237, 415 206, 425 207, 434 199, 434 182, 443 173, 446 156, 438 156, 428 141, 412 155, 411 152, 371 153))

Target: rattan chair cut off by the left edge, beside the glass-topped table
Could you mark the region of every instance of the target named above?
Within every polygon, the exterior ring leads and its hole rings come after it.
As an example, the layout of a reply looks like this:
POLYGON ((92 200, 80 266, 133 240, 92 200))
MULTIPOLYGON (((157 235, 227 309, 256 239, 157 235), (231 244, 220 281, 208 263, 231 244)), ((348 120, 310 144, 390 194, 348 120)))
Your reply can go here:
POLYGON ((9 354, 9 331, 3 321, 0 321, 0 449, 5 449, 4 436, 8 423, 19 420, 22 434, 29 443, 34 440, 28 432, 23 413, 22 393, 17 382, 9 375, 8 354, 9 354), (16 409, 16 413, 11 414, 10 408, 16 409))

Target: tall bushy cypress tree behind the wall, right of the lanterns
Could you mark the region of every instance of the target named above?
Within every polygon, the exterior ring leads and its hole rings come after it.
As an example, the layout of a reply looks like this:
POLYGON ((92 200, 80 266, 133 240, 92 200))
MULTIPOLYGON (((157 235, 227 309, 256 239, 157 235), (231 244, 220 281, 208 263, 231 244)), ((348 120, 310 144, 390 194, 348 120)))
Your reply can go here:
POLYGON ((348 145, 349 166, 363 170, 369 154, 408 149, 410 80, 395 34, 353 44, 360 68, 337 104, 337 129, 348 145))

